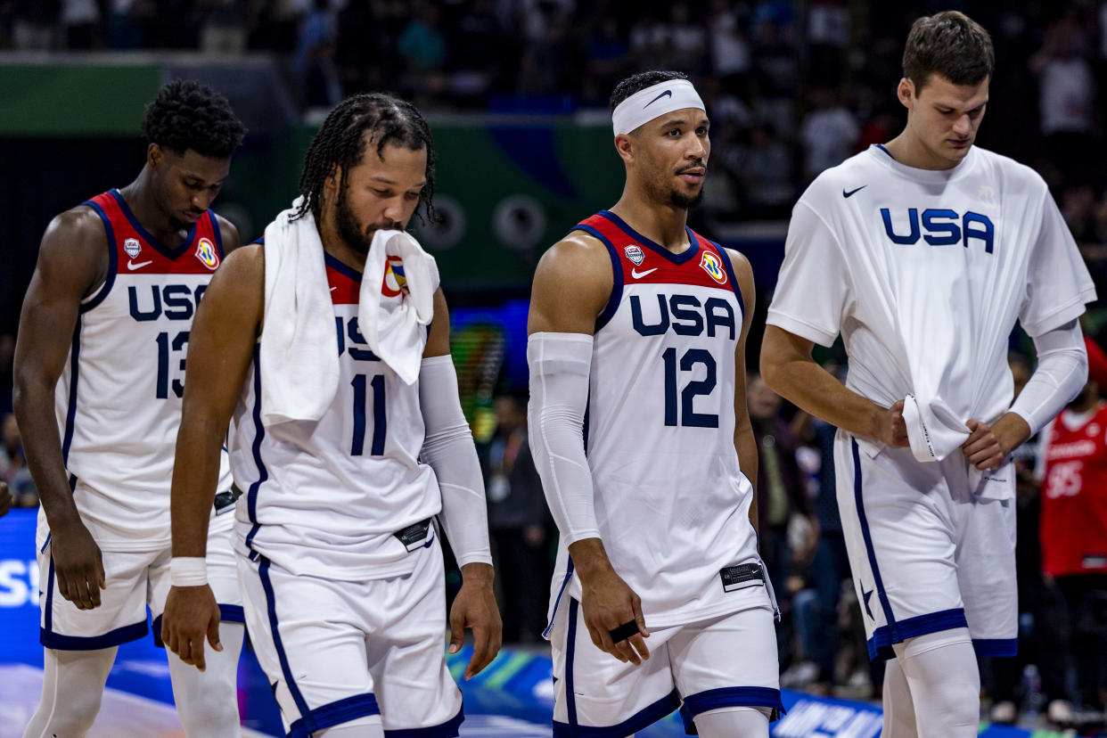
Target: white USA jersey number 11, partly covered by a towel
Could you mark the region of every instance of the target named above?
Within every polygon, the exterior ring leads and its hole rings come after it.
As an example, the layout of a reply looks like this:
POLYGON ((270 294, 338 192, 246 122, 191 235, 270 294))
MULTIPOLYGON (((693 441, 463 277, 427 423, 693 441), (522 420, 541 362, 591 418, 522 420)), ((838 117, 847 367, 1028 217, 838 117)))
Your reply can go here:
MULTIPOLYGON (((293 574, 399 576, 412 571, 416 557, 394 533, 442 509, 434 470, 418 461, 425 437, 418 382, 405 384, 369 350, 358 325, 361 274, 324 258, 338 392, 315 423, 265 427, 255 351, 231 424, 230 465, 245 492, 235 511, 235 544, 239 553, 263 555, 293 574)), ((391 269, 386 285, 394 279, 391 269)), ((425 332, 422 340, 425 345, 425 332)), ((427 544, 435 534, 432 529, 427 544)))

